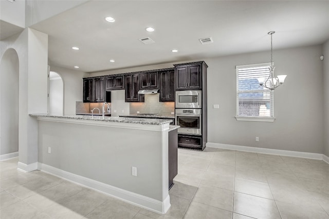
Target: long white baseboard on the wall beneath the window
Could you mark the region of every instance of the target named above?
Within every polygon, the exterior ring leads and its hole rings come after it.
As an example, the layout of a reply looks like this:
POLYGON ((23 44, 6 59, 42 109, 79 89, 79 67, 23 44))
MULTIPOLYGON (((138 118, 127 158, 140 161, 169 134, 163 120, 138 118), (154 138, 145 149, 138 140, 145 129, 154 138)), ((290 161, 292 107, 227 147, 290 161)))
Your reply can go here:
POLYGON ((237 151, 247 151, 247 152, 255 152, 255 153, 275 154, 282 156, 295 156, 295 157, 303 157, 303 158, 316 159, 316 160, 324 160, 324 155, 320 153, 286 151, 286 150, 268 149, 268 148, 255 148, 255 147, 227 145, 227 144, 218 144, 218 143, 210 143, 210 142, 208 142, 206 146, 211 148, 221 148, 221 149, 229 149, 229 150, 237 150, 237 151))

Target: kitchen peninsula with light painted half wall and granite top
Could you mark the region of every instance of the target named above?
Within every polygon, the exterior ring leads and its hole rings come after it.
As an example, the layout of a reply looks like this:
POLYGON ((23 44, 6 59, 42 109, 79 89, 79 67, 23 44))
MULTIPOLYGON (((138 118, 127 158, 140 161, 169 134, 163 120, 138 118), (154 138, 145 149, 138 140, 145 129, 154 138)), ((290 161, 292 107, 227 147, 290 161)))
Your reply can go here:
POLYGON ((169 125, 171 120, 31 116, 38 120, 39 169, 154 212, 167 212, 169 134, 177 137, 178 128, 169 125))

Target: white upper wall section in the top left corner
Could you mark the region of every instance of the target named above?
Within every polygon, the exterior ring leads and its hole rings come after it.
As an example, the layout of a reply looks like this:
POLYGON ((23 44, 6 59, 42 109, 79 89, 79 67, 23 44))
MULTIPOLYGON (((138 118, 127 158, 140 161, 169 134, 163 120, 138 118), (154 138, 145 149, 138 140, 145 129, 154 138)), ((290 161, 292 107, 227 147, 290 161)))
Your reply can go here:
POLYGON ((0 19, 25 28, 25 0, 0 1, 0 19))

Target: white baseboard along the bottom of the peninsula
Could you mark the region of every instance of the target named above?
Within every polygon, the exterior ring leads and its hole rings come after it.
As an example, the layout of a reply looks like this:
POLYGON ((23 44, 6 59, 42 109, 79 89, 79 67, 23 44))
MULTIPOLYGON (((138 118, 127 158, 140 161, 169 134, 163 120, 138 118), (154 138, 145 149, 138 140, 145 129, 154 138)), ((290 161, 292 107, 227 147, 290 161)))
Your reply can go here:
POLYGON ((144 195, 140 195, 134 192, 120 189, 46 164, 38 163, 38 168, 46 173, 56 175, 70 182, 96 190, 98 192, 107 194, 109 196, 113 196, 115 198, 118 198, 119 200, 130 203, 132 205, 136 205, 141 208, 148 209, 158 214, 165 214, 170 208, 169 195, 165 198, 165 200, 161 202, 155 200, 154 198, 150 198, 144 195))

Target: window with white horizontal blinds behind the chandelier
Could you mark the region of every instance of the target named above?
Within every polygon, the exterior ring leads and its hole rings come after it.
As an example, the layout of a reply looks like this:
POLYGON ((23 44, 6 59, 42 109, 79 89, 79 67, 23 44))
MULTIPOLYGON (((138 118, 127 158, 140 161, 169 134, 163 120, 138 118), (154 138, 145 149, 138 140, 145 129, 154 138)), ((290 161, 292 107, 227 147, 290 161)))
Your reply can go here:
POLYGON ((270 63, 236 66, 236 120, 273 122, 273 91, 259 85, 270 63))

